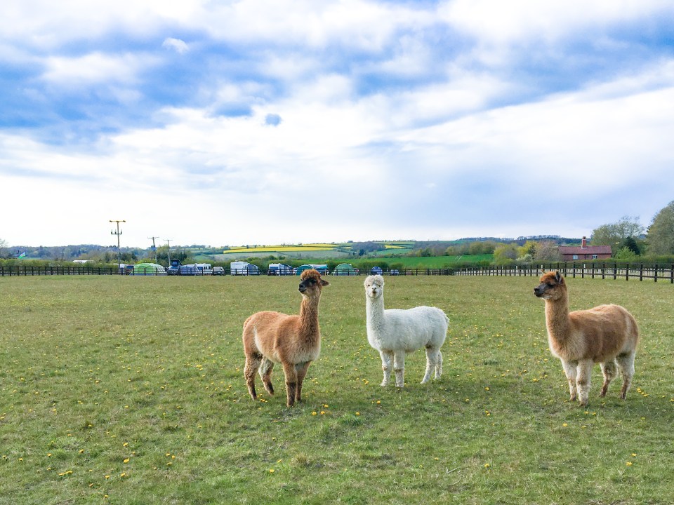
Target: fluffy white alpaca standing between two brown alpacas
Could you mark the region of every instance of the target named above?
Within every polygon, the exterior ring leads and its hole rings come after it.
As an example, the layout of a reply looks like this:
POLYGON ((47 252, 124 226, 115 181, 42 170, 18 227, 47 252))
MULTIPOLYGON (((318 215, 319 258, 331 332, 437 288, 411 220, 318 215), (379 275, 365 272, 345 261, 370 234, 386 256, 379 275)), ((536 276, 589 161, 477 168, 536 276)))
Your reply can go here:
POLYGON ((365 279, 367 341, 381 355, 384 372, 382 386, 395 371, 395 385, 404 386, 405 354, 425 347, 426 373, 421 384, 428 382, 435 370, 435 379, 442 375, 440 347, 447 337, 449 318, 436 307, 414 309, 384 309, 384 278, 380 275, 365 279))

